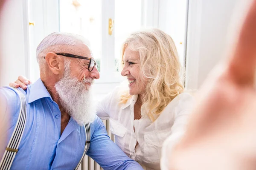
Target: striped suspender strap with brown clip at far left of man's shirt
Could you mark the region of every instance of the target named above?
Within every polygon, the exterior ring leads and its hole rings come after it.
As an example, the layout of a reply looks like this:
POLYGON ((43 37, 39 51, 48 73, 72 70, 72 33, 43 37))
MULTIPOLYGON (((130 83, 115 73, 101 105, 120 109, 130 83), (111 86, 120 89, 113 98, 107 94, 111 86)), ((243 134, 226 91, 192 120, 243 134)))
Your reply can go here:
POLYGON ((12 162, 18 152, 18 147, 26 125, 26 99, 23 93, 17 88, 14 89, 20 97, 20 113, 12 137, 0 162, 0 170, 9 170, 11 168, 12 162))

